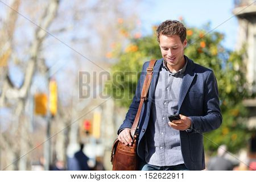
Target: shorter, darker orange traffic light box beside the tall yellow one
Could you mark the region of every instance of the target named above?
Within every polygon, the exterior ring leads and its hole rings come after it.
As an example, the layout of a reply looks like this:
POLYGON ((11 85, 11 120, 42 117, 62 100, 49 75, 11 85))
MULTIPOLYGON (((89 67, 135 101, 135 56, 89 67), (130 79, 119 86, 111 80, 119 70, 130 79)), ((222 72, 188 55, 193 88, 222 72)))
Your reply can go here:
POLYGON ((47 95, 45 93, 38 93, 34 96, 35 101, 35 114, 47 114, 47 95))

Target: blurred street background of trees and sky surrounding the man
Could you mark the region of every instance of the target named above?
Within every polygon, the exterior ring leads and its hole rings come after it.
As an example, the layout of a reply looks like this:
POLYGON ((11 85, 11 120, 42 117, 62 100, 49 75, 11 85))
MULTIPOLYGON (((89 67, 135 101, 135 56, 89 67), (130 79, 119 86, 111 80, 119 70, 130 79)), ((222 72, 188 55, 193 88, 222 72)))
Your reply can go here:
POLYGON ((223 123, 204 134, 207 169, 256 169, 252 0, 0 0, 0 169, 111 170, 166 19, 185 24, 185 55, 218 81, 223 123))

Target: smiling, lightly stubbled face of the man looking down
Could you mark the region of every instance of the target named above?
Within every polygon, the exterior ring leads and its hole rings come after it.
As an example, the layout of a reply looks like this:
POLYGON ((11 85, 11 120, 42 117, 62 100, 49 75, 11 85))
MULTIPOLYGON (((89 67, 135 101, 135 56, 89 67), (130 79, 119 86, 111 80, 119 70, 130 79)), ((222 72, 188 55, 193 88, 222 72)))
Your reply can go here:
POLYGON ((187 39, 182 43, 178 35, 165 36, 160 35, 160 49, 163 59, 166 60, 167 67, 170 71, 179 71, 185 63, 184 48, 187 46, 187 39))

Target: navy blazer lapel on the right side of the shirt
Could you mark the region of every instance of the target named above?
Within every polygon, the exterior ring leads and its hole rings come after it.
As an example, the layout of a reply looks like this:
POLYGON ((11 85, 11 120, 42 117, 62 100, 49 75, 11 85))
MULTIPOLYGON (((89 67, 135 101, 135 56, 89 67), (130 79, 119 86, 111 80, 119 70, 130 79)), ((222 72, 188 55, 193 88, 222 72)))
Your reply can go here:
POLYGON ((196 75, 195 72, 193 72, 193 69, 195 68, 195 65, 194 65, 193 61, 190 60, 190 59, 187 59, 187 60, 188 60, 188 64, 187 64, 185 75, 183 77, 183 81, 182 81, 181 88, 180 88, 178 113, 180 111, 181 104, 183 103, 184 98, 185 98, 185 96, 188 92, 188 89, 189 89, 189 87, 190 87, 190 85, 193 81, 193 78, 196 75))

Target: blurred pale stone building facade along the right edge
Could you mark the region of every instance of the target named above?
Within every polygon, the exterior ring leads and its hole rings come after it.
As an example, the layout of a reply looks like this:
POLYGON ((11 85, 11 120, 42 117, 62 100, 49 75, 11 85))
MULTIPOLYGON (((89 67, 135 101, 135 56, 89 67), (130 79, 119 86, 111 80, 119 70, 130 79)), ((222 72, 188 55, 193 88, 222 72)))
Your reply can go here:
MULTIPOLYGON (((250 90, 256 93, 256 2, 254 0, 235 0, 233 14, 238 19, 238 36, 236 49, 246 45, 246 78, 251 84, 250 90)), ((243 104, 249 110, 247 127, 256 132, 256 99, 245 100, 243 104)), ((249 142, 249 157, 256 158, 256 134, 249 142)))

